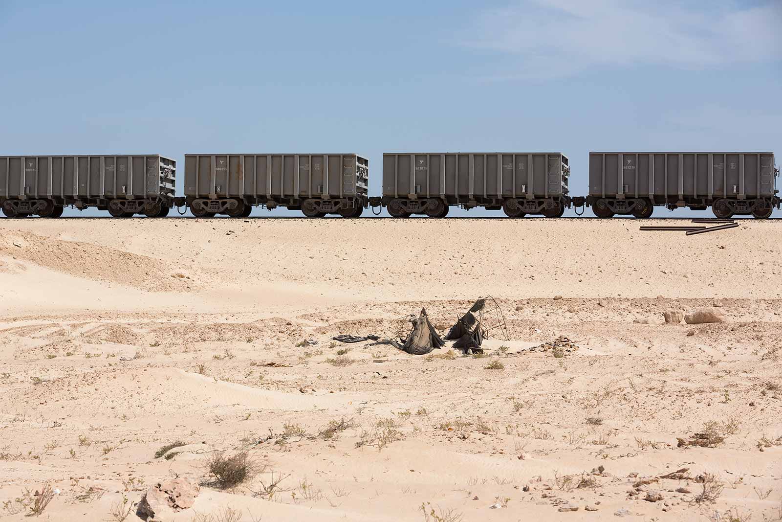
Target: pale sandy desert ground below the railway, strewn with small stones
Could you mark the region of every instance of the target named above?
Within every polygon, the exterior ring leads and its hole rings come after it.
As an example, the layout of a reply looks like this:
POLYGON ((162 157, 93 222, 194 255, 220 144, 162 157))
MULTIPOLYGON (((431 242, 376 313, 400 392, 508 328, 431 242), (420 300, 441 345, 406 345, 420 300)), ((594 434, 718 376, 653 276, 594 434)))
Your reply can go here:
POLYGON ((782 520, 782 222, 740 222, 0 219, 0 518, 178 476, 164 520, 782 520), (332 341, 486 295, 483 358, 332 341), (729 322, 660 324, 703 307, 729 322))

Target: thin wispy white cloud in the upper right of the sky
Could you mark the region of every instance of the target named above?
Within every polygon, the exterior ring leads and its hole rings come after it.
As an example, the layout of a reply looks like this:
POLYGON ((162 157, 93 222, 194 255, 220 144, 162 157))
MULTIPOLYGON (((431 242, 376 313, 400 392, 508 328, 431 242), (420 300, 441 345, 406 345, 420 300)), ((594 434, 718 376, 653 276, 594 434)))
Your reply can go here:
POLYGON ((521 0, 482 13, 470 44, 558 74, 649 63, 701 70, 779 60, 780 27, 779 0, 521 0))

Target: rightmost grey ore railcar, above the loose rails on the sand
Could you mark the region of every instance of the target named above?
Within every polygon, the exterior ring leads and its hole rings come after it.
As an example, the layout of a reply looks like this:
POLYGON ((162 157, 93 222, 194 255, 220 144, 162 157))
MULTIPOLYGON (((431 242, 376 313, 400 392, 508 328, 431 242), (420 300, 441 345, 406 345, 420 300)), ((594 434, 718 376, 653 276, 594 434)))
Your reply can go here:
POLYGON ((648 218, 656 205, 768 218, 777 175, 773 153, 590 152, 587 205, 598 218, 648 218))

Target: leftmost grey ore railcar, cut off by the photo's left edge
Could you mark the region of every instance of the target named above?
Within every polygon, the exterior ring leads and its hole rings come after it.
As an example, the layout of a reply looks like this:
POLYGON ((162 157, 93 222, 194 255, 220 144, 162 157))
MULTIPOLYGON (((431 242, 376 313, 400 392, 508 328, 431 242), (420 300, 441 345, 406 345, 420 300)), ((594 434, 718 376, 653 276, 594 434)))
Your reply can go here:
POLYGON ((160 154, 0 157, 0 207, 9 218, 56 218, 66 205, 163 217, 175 187, 176 162, 160 154))

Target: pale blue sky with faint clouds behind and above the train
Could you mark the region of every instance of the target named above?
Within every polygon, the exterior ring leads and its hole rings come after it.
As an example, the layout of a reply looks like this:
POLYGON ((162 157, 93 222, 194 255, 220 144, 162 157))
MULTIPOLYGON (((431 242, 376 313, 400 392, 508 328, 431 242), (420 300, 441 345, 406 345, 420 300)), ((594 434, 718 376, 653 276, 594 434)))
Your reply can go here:
POLYGON ((0 49, 5 154, 782 157, 779 0, 0 0, 0 49))

